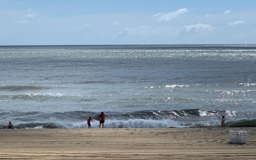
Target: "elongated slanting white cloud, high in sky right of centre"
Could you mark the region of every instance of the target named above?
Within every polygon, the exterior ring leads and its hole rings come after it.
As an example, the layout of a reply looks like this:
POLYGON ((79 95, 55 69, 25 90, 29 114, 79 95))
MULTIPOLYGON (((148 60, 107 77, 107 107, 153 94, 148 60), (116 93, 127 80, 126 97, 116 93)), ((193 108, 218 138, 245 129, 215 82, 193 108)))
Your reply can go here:
POLYGON ((181 8, 179 10, 176 10, 175 12, 154 14, 153 18, 156 19, 157 22, 170 21, 186 12, 188 12, 187 8, 181 8))

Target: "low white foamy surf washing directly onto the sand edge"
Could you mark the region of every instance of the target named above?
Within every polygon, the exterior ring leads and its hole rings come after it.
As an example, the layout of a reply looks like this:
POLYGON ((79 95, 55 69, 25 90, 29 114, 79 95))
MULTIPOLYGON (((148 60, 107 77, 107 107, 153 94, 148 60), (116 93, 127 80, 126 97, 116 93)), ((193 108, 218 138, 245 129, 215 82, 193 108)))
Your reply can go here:
MULTIPOLYGON (((99 122, 96 120, 91 121, 92 128, 98 128, 99 122)), ((2 128, 6 128, 6 124, 0 124, 2 128)), ((87 122, 66 122, 58 123, 26 123, 14 125, 15 128, 87 128, 87 122)), ((104 123, 105 128, 208 128, 208 127, 221 127, 220 122, 186 122, 180 123, 171 119, 152 120, 152 119, 128 119, 128 120, 106 120, 104 123)), ((256 119, 253 120, 237 120, 226 123, 226 127, 256 127, 256 119)))

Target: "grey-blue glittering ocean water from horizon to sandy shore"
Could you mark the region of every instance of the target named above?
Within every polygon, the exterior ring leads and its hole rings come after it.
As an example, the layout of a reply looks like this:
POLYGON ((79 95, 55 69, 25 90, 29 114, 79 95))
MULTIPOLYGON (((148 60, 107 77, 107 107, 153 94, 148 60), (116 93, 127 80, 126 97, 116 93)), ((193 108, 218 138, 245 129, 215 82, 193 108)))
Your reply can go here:
POLYGON ((0 126, 86 128, 100 112, 106 128, 255 125, 256 45, 0 46, 0 126))

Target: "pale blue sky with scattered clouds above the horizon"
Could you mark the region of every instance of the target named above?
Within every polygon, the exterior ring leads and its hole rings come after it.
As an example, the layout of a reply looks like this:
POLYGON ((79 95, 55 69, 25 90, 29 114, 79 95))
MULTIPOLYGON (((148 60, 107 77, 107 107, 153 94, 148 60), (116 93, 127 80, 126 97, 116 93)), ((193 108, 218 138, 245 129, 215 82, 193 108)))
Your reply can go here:
POLYGON ((0 45, 256 44, 256 0, 0 0, 0 45))

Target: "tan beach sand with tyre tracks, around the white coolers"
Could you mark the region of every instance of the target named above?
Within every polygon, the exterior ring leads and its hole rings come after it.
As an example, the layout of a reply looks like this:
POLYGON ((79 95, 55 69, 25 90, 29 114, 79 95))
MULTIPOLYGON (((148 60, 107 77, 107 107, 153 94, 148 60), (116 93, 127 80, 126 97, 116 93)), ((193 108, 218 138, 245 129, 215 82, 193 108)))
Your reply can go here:
POLYGON ((256 128, 2 129, 0 159, 256 159, 256 128), (228 144, 229 130, 247 144, 228 144))

